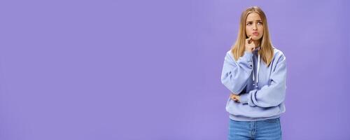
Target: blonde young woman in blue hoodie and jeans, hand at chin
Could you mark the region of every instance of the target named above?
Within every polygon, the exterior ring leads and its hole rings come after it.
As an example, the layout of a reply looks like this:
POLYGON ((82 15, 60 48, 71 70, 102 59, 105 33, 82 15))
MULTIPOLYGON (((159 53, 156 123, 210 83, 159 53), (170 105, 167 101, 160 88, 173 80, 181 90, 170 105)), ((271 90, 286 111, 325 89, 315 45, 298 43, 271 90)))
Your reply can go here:
POLYGON ((281 139, 286 75, 286 57, 272 46, 265 13, 257 6, 247 8, 221 75, 231 91, 228 139, 281 139))

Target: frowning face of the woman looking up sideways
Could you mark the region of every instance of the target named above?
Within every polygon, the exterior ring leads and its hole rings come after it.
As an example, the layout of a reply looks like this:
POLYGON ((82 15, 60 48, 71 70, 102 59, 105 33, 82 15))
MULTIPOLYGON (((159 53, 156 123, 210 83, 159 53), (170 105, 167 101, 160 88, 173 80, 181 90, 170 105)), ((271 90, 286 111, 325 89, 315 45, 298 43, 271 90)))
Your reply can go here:
POLYGON ((246 18, 246 36, 253 36, 254 41, 258 41, 262 38, 264 33, 264 27, 262 26, 262 20, 258 13, 250 13, 246 18))

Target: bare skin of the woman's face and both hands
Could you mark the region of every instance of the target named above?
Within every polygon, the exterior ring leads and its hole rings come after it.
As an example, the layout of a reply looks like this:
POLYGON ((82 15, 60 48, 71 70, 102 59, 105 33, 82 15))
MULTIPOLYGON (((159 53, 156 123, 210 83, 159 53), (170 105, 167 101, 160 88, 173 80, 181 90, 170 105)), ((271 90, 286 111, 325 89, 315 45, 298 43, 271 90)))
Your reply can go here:
MULTIPOLYGON (((255 50, 255 47, 260 44, 263 33, 264 27, 260 15, 258 13, 250 13, 246 18, 246 36, 248 36, 245 44, 246 52, 255 50)), ((230 98, 235 102, 240 102, 240 96, 237 94, 231 94, 230 98)))

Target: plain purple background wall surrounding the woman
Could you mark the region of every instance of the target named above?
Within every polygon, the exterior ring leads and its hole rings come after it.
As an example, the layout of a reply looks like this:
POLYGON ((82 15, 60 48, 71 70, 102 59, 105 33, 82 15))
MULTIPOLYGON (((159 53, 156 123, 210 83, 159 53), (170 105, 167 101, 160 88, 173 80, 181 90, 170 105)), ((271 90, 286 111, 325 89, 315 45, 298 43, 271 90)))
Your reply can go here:
POLYGON ((287 57, 283 139, 350 139, 346 0, 2 0, 0 139, 226 139, 248 6, 287 57))

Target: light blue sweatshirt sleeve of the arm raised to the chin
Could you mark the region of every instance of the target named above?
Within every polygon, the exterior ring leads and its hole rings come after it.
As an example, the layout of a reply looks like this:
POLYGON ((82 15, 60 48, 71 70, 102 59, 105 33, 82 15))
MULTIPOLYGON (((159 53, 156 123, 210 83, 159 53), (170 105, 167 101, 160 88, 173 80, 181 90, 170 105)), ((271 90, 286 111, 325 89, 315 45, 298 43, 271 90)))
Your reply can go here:
POLYGON ((244 52, 244 55, 239 57, 236 62, 230 51, 226 54, 223 63, 223 71, 221 73, 221 83, 223 83, 232 94, 239 94, 244 90, 248 78, 251 76, 251 71, 253 71, 252 56, 253 53, 244 52))

